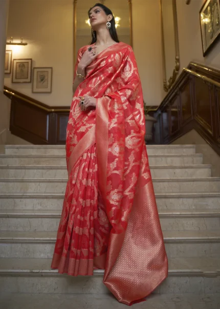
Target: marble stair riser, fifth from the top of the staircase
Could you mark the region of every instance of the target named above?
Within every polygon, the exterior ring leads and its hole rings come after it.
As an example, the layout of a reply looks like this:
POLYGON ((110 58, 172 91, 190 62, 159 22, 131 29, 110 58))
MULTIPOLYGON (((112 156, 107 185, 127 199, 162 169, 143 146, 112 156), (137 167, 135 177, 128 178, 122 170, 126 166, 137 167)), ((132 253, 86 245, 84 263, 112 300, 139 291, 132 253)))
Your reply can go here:
MULTIPOLYGON (((63 196, 64 197, 64 196, 63 196)), ((159 210, 165 209, 219 209, 220 198, 156 198, 159 210)), ((62 209, 63 198, 61 199, 22 199, 8 198, 0 199, 0 209, 26 209, 26 210, 60 210, 62 209)))

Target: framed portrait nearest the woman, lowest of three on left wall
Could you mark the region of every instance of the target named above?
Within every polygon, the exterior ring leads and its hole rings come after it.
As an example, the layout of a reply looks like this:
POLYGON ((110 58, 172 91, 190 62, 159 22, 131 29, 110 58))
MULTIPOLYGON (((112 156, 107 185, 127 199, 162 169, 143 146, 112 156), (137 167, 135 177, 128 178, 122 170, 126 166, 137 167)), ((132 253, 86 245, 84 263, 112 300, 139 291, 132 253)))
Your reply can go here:
POLYGON ((34 68, 32 92, 51 93, 52 73, 53 68, 34 68))

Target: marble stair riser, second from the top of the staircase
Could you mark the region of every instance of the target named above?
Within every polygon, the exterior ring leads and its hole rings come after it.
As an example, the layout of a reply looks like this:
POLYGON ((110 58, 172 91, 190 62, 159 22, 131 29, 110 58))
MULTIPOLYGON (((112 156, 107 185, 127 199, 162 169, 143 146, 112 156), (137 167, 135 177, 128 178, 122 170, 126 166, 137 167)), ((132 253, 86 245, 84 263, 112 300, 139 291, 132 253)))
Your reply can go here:
MULTIPOLYGON (((202 164, 202 156, 189 156, 189 157, 149 157, 150 165, 191 165, 202 164)), ((0 158, 0 165, 57 165, 65 166, 65 158, 0 158)))

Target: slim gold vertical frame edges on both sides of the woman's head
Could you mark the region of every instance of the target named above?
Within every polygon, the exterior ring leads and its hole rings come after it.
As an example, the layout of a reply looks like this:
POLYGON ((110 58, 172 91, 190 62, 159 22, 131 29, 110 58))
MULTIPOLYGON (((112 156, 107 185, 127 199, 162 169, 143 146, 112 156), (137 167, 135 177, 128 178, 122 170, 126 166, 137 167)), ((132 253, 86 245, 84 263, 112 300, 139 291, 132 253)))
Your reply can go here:
MULTIPOLYGON (((74 0, 73 1, 73 25, 74 25, 74 30, 73 30, 73 59, 74 59, 74 68, 75 68, 75 63, 76 63, 76 5, 77 1, 80 0, 74 0)), ((132 20, 132 3, 131 0, 127 0, 128 8, 129 8, 129 27, 130 27, 130 46, 133 47, 133 20, 132 20)))

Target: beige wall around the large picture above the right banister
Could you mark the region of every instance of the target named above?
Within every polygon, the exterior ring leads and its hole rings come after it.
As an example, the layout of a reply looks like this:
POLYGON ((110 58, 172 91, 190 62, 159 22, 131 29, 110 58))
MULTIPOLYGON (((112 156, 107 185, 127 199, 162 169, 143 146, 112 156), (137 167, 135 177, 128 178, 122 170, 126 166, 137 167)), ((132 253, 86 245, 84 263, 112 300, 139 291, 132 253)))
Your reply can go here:
POLYGON ((190 61, 220 69, 220 41, 203 57, 199 15, 203 3, 204 0, 192 0, 186 5, 185 0, 177 0, 181 70, 190 61))

